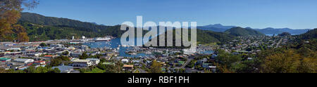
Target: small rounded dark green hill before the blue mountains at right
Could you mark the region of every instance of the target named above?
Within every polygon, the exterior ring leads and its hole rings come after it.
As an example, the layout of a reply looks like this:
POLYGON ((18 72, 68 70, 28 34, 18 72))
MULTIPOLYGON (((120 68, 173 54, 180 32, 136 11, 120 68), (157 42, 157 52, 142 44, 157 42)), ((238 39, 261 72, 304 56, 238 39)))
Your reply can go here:
POLYGON ((242 27, 233 27, 225 31, 226 34, 232 34, 235 36, 264 36, 265 34, 258 32, 254 29, 245 29, 242 27))

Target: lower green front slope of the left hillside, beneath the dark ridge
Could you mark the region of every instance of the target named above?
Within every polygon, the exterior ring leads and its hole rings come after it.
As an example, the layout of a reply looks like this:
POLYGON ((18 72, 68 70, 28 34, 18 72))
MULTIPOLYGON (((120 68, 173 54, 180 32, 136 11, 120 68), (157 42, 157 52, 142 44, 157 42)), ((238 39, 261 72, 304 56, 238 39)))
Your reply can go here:
POLYGON ((80 39, 82 36, 87 38, 101 37, 101 36, 120 36, 125 31, 120 30, 120 25, 108 27, 100 32, 93 32, 85 27, 69 27, 65 25, 50 26, 50 25, 38 25, 31 22, 18 22, 27 31, 27 36, 30 37, 30 41, 46 41, 52 39, 72 39, 75 36, 76 39, 80 39))

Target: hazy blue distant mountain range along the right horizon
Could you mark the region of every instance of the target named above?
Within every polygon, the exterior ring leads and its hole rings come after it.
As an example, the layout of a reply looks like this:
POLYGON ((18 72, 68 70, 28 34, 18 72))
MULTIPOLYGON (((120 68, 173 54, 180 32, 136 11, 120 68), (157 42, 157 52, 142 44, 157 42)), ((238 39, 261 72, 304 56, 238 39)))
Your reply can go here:
MULTIPOLYGON (((206 26, 199 26, 197 27, 198 29, 203 29, 203 30, 210 30, 213 32, 225 32, 228 29, 231 29, 236 26, 225 26, 225 25, 206 25, 206 26)), ((251 27, 246 27, 246 29, 252 29, 251 27)), ((263 34, 282 34, 283 32, 289 32, 290 34, 304 34, 308 32, 310 29, 290 29, 290 28, 265 28, 265 29, 254 29, 256 31, 259 31, 263 34)))

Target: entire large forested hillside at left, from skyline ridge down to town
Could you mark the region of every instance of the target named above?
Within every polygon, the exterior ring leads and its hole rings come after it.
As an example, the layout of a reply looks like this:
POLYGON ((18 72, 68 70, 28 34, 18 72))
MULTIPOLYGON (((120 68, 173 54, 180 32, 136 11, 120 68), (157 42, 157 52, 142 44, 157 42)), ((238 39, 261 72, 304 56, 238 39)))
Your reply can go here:
POLYGON ((18 24, 25 27, 30 41, 46 41, 50 39, 71 39, 72 36, 89 38, 97 36, 121 36, 125 31, 120 25, 104 26, 91 22, 80 22, 67 18, 46 17, 36 13, 21 13, 18 24))

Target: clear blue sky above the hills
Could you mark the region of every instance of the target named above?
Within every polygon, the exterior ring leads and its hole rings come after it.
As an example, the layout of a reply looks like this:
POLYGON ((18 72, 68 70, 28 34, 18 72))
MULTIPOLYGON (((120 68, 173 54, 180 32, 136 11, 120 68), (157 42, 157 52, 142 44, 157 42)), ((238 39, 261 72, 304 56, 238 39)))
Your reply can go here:
POLYGON ((317 0, 40 0, 32 13, 104 25, 197 22, 253 28, 317 28, 317 0))

